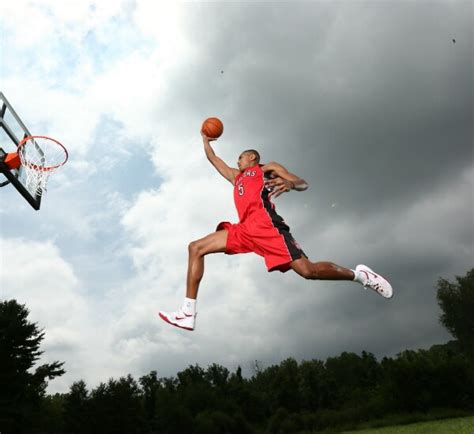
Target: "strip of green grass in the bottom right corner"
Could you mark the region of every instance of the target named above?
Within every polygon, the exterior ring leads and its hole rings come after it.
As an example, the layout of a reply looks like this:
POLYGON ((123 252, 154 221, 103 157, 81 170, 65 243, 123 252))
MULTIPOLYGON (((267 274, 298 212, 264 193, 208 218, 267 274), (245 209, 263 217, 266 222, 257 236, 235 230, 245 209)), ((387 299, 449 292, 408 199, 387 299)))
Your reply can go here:
POLYGON ((474 434, 474 417, 435 420, 410 425, 345 431, 347 434, 474 434))

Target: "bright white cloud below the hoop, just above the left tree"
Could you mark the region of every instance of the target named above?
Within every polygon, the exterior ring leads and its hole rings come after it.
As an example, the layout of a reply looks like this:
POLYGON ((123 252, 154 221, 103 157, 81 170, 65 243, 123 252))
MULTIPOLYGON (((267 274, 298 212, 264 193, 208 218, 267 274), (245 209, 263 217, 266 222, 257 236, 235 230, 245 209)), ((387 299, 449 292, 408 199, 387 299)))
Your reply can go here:
MULTIPOLYGON (((0 244, 2 252, 7 252, 0 258, 2 299, 26 305, 29 321, 46 332, 41 346, 45 354, 38 363, 69 361, 85 353, 87 338, 92 335, 88 303, 57 246, 21 238, 2 238, 0 244)), ((69 363, 66 367, 70 375, 77 375, 69 363)))

